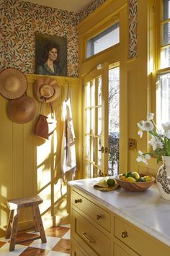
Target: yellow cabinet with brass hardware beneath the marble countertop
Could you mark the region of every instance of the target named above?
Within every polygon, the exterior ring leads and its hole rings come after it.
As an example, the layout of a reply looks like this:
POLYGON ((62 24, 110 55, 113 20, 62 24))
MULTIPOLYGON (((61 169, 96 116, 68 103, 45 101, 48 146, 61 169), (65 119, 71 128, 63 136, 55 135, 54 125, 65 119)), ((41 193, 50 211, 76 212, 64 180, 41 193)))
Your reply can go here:
POLYGON ((71 255, 169 256, 170 247, 72 187, 71 255))

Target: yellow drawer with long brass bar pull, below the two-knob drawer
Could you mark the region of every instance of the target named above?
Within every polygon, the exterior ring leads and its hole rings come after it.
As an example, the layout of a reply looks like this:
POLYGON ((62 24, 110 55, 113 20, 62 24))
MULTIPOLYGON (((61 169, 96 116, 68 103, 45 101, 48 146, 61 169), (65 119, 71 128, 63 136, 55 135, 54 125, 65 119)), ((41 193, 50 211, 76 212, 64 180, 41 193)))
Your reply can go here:
MULTIPOLYGON (((110 255, 110 240, 109 237, 105 236, 95 226, 91 225, 84 217, 73 210, 73 238, 76 239, 79 244, 85 243, 90 247, 95 255, 110 255)), ((89 250, 87 250, 89 252, 89 250)), ((90 255, 92 255, 90 253, 90 255)))

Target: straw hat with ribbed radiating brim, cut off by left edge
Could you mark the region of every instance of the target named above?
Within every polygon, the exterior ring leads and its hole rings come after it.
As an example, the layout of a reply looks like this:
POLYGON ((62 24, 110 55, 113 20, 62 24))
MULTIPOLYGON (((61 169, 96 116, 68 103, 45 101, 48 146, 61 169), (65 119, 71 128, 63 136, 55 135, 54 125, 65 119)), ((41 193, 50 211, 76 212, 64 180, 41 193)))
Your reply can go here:
POLYGON ((27 77, 21 71, 9 67, 0 72, 0 93, 4 98, 20 98, 26 90, 27 77))

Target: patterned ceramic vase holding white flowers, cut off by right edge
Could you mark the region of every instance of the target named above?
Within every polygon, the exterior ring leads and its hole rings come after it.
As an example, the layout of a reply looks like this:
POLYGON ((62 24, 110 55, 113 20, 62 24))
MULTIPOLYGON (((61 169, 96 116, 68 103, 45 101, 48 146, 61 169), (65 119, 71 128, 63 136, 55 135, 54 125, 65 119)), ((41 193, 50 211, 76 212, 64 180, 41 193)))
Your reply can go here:
POLYGON ((158 169, 156 184, 166 200, 170 200, 170 156, 162 156, 163 165, 158 169))

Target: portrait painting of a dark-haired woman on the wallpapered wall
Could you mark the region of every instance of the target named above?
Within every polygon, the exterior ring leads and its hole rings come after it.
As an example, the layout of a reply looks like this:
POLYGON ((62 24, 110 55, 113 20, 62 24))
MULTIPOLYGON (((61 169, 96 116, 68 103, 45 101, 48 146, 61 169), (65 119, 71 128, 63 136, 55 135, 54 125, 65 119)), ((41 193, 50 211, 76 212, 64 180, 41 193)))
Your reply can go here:
POLYGON ((35 33, 35 74, 67 76, 67 38, 35 33))

